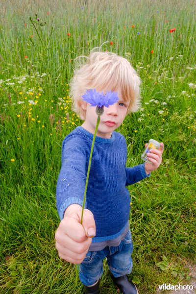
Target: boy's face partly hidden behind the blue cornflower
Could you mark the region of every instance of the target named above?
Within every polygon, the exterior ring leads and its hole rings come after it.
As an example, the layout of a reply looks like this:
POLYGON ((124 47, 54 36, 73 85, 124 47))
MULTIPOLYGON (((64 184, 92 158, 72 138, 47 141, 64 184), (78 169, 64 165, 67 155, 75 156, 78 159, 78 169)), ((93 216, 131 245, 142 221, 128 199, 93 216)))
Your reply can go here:
MULTIPOLYGON (((98 125, 97 136, 101 138, 110 139, 112 132, 117 129, 126 116, 129 101, 125 101, 122 97, 121 89, 118 91, 119 100, 109 107, 104 107, 104 112, 100 116, 100 123, 98 125)), ((96 106, 90 106, 89 103, 83 104, 83 109, 86 110, 86 118, 82 127, 94 134, 98 115, 96 113, 96 106)))

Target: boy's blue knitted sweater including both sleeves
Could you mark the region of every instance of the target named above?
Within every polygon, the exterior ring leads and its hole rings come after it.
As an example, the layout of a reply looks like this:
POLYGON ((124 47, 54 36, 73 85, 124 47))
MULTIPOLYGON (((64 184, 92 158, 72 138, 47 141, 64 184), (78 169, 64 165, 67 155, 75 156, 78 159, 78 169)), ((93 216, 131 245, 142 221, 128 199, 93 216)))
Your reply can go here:
MULTIPOLYGON (((76 127, 62 144, 62 165, 56 188, 60 219, 70 204, 82 205, 93 134, 76 127)), ((145 165, 126 168, 126 141, 113 132, 110 139, 96 137, 86 205, 96 222, 93 242, 112 240, 126 228, 130 196, 126 186, 146 178, 145 165)))

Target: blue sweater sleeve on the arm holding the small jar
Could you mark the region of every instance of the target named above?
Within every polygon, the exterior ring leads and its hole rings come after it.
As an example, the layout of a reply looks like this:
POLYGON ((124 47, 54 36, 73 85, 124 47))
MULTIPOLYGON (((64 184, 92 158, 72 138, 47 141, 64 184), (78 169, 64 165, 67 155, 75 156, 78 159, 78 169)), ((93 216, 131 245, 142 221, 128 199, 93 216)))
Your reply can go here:
POLYGON ((125 168, 126 172, 126 185, 132 185, 135 184, 141 180, 143 180, 146 177, 150 176, 149 174, 146 174, 145 172, 145 163, 137 165, 133 168, 125 168))

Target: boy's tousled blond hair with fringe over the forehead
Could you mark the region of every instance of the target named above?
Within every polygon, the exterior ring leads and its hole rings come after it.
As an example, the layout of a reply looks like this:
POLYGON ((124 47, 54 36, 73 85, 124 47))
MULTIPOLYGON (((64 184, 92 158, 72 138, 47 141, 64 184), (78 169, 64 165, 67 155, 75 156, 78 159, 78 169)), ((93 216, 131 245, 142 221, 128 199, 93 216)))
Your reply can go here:
POLYGON ((140 102, 140 78, 127 59, 111 52, 91 52, 85 64, 79 64, 70 82, 72 109, 79 117, 85 119, 82 109, 82 95, 87 90, 117 91, 120 87, 125 101, 130 101, 127 114, 135 112, 140 102))

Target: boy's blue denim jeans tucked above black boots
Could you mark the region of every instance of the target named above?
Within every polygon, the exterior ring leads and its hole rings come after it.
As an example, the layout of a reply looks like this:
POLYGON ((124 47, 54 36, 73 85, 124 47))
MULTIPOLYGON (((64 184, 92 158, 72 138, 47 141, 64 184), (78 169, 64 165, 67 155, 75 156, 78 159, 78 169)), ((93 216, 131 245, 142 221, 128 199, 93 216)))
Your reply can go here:
POLYGON ((106 246, 100 251, 88 251, 80 264, 79 278, 85 286, 95 284, 103 273, 103 259, 107 258, 109 270, 114 277, 131 273, 133 243, 130 230, 119 246, 106 246))

